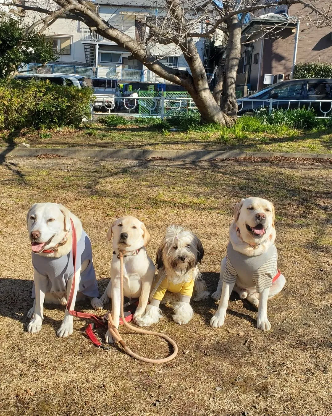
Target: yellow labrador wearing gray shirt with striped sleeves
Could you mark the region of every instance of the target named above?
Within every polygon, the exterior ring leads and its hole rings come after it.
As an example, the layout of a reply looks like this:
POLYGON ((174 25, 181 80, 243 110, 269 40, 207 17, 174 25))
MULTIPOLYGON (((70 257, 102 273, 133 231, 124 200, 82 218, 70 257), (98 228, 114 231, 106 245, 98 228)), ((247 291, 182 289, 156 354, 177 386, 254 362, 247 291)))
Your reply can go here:
POLYGON ((220 280, 212 294, 220 302, 211 318, 211 327, 224 324, 229 296, 234 290, 241 299, 258 307, 257 328, 264 332, 271 329, 267 301, 279 293, 286 282, 277 269, 274 218, 274 206, 266 199, 246 198, 235 205, 227 255, 222 259, 220 280))

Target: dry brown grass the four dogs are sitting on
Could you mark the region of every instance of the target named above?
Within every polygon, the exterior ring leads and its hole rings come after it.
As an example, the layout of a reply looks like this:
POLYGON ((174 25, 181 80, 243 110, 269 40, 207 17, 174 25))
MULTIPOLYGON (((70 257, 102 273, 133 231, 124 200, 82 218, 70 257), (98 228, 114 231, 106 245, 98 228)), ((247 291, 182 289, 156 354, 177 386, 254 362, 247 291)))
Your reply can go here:
MULTIPOLYGON (((2 163, 0 414, 331 414, 331 180, 328 165, 67 158, 2 163), (32 203, 62 202, 81 218, 93 243, 100 292, 112 252, 106 230, 123 214, 145 221, 153 259, 166 225, 197 233, 205 248, 201 270, 213 290, 233 205, 246 196, 276 205, 279 266, 287 282, 269 301, 270 333, 257 330, 254 309, 232 296, 220 329, 208 326, 217 307, 212 300, 194 304, 195 316, 183 327, 164 307, 155 329, 179 346, 178 357, 164 365, 134 361, 116 347, 93 347, 82 320, 74 320, 70 338, 56 338, 61 307, 46 307, 42 331, 27 334, 33 270, 25 215, 32 203)), ((167 353, 159 339, 125 339, 149 357, 167 353)))

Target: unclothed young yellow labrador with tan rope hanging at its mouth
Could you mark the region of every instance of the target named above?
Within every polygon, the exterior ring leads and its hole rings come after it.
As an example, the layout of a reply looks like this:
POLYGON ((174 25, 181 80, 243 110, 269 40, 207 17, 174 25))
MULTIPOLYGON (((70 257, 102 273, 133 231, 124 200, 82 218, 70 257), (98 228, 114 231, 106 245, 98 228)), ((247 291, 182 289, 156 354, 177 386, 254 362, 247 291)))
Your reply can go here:
MULTIPOLYGON (((145 247, 151 237, 144 223, 130 215, 115 220, 107 231, 107 240, 113 236, 113 258, 110 282, 101 297, 103 304, 112 299, 112 319, 118 328, 120 323, 120 258, 123 255, 123 291, 129 298, 138 298, 139 305, 133 320, 137 322, 145 313, 149 301, 152 281, 154 279, 154 263, 146 253, 145 247)), ((114 342, 109 331, 105 334, 105 342, 114 342)))

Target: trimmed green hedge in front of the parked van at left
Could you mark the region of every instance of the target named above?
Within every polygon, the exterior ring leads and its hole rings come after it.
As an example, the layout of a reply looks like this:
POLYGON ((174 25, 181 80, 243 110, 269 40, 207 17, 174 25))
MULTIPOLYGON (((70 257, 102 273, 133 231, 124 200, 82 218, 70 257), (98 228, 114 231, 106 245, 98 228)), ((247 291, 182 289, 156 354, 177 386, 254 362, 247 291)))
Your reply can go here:
POLYGON ((79 126, 90 117, 92 89, 1 80, 0 129, 79 126))

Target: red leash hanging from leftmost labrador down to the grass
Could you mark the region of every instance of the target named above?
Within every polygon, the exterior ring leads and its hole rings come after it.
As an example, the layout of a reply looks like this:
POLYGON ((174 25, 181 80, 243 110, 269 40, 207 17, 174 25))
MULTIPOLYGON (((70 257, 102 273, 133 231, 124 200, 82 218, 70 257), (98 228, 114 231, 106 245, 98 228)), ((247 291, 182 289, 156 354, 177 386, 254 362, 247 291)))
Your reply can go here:
MULTIPOLYGON (((94 327, 98 328, 98 327, 107 327, 107 322, 104 321, 103 317, 94 315, 94 314, 90 314, 90 313, 85 313, 85 312, 77 312, 74 309, 71 309, 71 302, 73 300, 73 296, 74 296, 74 290, 75 290, 75 279, 76 279, 76 249, 77 249, 77 238, 76 238, 76 230, 73 224, 73 220, 70 219, 71 222, 71 229, 73 230, 73 242, 72 242, 72 252, 73 252, 73 266, 74 266, 74 275, 73 275, 73 282, 71 284, 71 291, 69 293, 69 297, 67 300, 67 310, 68 313, 72 316, 76 316, 77 318, 84 318, 84 319, 92 319, 93 320, 93 324, 88 324, 88 327, 85 329, 85 333, 87 334, 88 338, 91 340, 91 342, 93 342, 93 344, 95 344, 97 347, 102 347, 105 348, 103 346, 103 344, 98 341, 98 339, 96 338, 93 329, 94 327)), ((127 305, 131 304, 132 302, 128 302, 127 305)), ((138 302, 137 302, 138 303, 138 302)), ((132 313, 131 312, 127 312, 127 316, 125 317, 126 322, 130 322, 132 320, 132 313)), ((120 324, 122 324, 122 319, 120 319, 120 324)), ((106 347, 108 348, 108 347, 106 347)))

